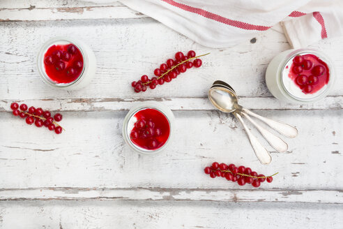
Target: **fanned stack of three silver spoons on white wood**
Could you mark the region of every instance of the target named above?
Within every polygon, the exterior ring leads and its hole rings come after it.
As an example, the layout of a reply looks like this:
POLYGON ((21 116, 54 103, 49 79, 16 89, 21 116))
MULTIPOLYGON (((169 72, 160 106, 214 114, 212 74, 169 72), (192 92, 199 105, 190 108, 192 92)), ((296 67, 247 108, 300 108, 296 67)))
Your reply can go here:
POLYGON ((295 138, 298 135, 298 130, 288 124, 283 124, 280 121, 275 121, 272 119, 267 119, 266 117, 261 117, 259 114, 255 114, 251 110, 247 110, 238 104, 238 96, 234 89, 221 80, 213 82, 212 87, 208 90, 208 98, 211 103, 222 112, 233 113, 234 116, 241 121, 247 137, 250 140, 254 152, 259 158, 259 161, 263 164, 269 164, 272 160, 268 150, 261 145, 261 142, 251 133, 249 128, 247 128, 242 117, 245 117, 248 121, 254 125, 261 135, 266 138, 269 144, 277 150, 277 152, 287 152, 288 145, 284 140, 277 137, 275 134, 268 131, 266 128, 260 126, 256 121, 254 121, 250 116, 264 121, 270 128, 273 128, 275 131, 281 133, 282 135, 288 138, 295 138))

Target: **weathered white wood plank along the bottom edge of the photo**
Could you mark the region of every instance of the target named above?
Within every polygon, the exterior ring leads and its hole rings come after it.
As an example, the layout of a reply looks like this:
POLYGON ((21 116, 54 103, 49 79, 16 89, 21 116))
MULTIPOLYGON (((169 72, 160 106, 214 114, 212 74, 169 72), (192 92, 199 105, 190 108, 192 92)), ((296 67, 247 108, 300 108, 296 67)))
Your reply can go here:
POLYGON ((342 205, 303 203, 9 201, 0 202, 0 227, 338 229, 342 214, 342 205))

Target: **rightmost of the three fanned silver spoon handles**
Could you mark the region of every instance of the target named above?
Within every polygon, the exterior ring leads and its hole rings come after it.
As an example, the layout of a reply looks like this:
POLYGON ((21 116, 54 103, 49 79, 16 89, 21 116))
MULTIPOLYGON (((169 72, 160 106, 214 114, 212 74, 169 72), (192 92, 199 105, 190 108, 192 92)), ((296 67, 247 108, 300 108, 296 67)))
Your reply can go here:
POLYGON ((275 121, 273 119, 267 119, 266 117, 261 117, 261 115, 255 114, 251 110, 247 110, 245 108, 243 108, 242 111, 261 121, 264 121, 268 126, 273 128, 275 131, 281 133, 282 135, 285 135, 288 138, 296 138, 296 136, 298 135, 298 130, 293 126, 290 126, 289 124, 284 124, 280 121, 275 121))

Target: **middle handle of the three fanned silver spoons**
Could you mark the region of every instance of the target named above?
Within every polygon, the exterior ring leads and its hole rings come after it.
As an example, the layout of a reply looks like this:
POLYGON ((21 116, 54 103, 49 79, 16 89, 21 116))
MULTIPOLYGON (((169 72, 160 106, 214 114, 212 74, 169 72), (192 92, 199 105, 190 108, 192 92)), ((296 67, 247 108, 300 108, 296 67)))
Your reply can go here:
POLYGON ((266 140, 269 142, 269 144, 274 149, 276 149, 277 152, 287 152, 288 145, 286 142, 284 142, 284 140, 277 137, 273 133, 270 133, 270 131, 268 131, 266 128, 263 128, 262 126, 257 124, 252 118, 250 118, 249 115, 245 114, 244 112, 241 112, 241 114, 243 114, 243 116, 247 120, 249 120, 257 128, 257 130, 259 130, 259 133, 261 133, 261 135, 263 135, 264 138, 266 138, 266 140))

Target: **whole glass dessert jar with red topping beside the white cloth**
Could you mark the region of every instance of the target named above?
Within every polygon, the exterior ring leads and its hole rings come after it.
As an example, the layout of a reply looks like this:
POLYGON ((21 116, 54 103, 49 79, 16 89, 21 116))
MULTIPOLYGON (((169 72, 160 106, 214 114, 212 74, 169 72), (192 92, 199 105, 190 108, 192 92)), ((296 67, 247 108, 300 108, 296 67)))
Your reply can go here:
POLYGON ((312 103, 324 98, 333 88, 332 62, 315 49, 287 50, 270 61, 266 84, 275 98, 287 103, 312 103))

